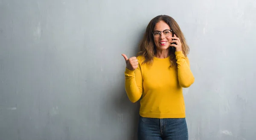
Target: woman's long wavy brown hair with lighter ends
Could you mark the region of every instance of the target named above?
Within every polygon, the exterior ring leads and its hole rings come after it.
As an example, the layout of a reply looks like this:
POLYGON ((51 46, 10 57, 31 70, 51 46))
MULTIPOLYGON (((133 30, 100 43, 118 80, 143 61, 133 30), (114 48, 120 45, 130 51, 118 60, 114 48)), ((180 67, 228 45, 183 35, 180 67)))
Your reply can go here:
MULTIPOLYGON (((144 56, 144 61, 143 63, 148 63, 150 64, 153 62, 154 56, 156 55, 156 45, 154 44, 154 36, 152 34, 155 25, 157 22, 166 22, 167 25, 172 30, 172 34, 175 34, 179 39, 182 44, 182 52, 184 56, 186 57, 187 54, 189 53, 189 46, 186 43, 186 39, 180 30, 179 25, 177 22, 170 16, 167 15, 159 15, 157 17, 154 17, 149 23, 146 28, 146 31, 144 33, 143 39, 140 41, 139 44, 139 52, 137 53, 137 56, 144 56)), ((172 47, 169 47, 169 55, 170 55, 170 62, 171 62, 171 67, 177 66, 176 63, 176 56, 175 56, 175 51, 171 49, 172 47)))

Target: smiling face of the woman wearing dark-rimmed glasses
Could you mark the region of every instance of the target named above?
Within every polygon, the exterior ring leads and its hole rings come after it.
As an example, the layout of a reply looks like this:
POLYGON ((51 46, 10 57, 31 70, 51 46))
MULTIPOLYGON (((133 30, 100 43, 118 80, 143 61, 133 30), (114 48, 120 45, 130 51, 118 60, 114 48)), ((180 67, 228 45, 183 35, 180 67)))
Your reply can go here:
POLYGON ((170 30, 171 28, 169 27, 169 25, 167 25, 166 22, 162 20, 160 22, 157 22, 157 24, 155 25, 153 32, 155 36, 154 43, 157 50, 166 50, 170 47, 170 42, 172 41, 172 32, 170 30))

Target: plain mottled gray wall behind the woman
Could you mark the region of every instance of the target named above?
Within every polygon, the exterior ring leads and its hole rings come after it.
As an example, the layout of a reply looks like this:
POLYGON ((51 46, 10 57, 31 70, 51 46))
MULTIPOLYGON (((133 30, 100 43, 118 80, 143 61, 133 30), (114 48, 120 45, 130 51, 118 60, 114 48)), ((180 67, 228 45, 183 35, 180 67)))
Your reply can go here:
POLYGON ((0 0, 0 140, 136 140, 121 54, 159 14, 191 48, 189 140, 254 140, 255 0, 0 0))

